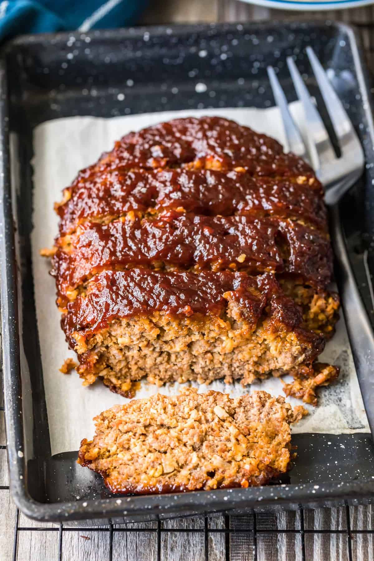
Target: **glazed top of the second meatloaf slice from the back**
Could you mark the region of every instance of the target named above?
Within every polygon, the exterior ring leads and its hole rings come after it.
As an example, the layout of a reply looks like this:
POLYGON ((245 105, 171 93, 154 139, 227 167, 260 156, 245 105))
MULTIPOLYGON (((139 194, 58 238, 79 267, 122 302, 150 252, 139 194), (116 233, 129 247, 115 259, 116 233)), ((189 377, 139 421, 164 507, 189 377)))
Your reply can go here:
POLYGON ((326 231, 321 183, 311 171, 297 177, 252 177, 212 169, 82 170, 56 204, 63 236, 85 220, 105 222, 130 210, 181 208, 209 216, 252 214, 302 219, 326 231))

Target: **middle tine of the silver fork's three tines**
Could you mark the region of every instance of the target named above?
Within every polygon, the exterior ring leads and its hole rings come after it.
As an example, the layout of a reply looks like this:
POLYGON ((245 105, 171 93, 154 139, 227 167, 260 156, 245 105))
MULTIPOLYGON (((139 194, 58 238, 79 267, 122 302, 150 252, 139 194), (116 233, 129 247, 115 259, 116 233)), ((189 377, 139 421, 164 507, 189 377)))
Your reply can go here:
POLYGON ((320 164, 329 162, 335 158, 335 152, 324 122, 315 104, 312 103, 307 87, 292 57, 287 57, 287 65, 297 96, 303 105, 305 118, 308 123, 308 140, 310 137, 313 140, 312 145, 308 146, 311 157, 313 159, 313 153, 316 151, 316 157, 320 164))

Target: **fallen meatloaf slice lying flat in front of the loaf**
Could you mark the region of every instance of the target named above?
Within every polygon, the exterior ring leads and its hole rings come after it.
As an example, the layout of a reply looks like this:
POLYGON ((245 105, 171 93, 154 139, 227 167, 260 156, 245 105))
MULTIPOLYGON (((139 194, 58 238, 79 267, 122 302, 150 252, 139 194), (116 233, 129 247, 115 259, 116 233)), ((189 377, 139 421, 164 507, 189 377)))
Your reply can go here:
POLYGON ((266 392, 157 394, 95 417, 96 434, 82 440, 78 462, 113 493, 264 485, 292 466, 290 424, 304 413, 266 392))

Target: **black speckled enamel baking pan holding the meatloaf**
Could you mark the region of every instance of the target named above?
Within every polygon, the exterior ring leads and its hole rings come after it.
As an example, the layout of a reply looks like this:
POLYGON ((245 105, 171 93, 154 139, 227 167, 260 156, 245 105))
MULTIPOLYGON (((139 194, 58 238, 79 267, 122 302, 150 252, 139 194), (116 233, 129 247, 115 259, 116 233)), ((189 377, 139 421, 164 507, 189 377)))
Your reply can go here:
POLYGON ((373 431, 374 134, 368 82, 354 31, 331 22, 150 27, 25 36, 3 48, 0 266, 5 415, 11 493, 27 516, 97 524, 108 523, 109 518, 130 522, 233 509, 246 512, 372 500, 374 445, 370 433, 294 435, 298 447, 295 467, 275 485, 162 496, 112 496, 98 475, 76 464, 76 452, 53 457, 50 452, 30 251, 34 127, 48 119, 74 115, 113 117, 184 108, 268 107, 274 100, 267 65, 278 67, 281 84, 293 100, 295 92, 285 67, 288 55, 297 58, 323 113, 304 55, 307 45, 313 46, 322 65, 329 68, 366 154, 362 181, 333 211, 332 234, 336 279, 373 431), (195 90, 198 82, 206 84, 206 91, 195 90), (10 134, 16 145, 12 155, 10 134))

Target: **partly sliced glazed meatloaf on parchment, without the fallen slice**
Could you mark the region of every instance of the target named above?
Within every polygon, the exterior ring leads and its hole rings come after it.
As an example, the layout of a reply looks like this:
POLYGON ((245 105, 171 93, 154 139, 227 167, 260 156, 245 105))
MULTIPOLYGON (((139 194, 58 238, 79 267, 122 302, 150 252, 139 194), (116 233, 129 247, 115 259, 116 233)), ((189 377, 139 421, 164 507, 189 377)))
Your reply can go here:
POLYGON ((288 393, 313 402, 336 378, 314 367, 339 309, 322 187, 277 141, 218 117, 131 132, 56 211, 52 274, 84 384, 126 396, 144 376, 290 373, 288 393))

